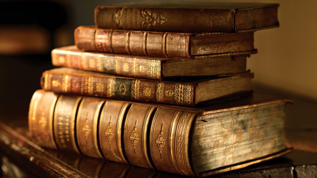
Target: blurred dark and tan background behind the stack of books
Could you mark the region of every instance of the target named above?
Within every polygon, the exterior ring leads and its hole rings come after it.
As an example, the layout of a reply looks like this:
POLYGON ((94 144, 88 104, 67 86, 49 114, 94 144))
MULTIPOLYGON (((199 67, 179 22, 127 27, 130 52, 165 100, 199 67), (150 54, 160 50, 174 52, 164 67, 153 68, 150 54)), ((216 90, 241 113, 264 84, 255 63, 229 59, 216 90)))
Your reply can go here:
MULTIPOLYGON (((41 73, 53 68, 50 51, 74 44, 77 26, 94 25, 97 5, 125 2, 130 1, 0 0, 0 99, 7 106, 1 107, 1 114, 14 117, 8 108, 27 114, 32 94, 40 88, 41 73)), ((280 28, 255 33, 258 54, 247 65, 255 73, 253 83, 316 100, 317 1, 262 2, 280 4, 280 28)))

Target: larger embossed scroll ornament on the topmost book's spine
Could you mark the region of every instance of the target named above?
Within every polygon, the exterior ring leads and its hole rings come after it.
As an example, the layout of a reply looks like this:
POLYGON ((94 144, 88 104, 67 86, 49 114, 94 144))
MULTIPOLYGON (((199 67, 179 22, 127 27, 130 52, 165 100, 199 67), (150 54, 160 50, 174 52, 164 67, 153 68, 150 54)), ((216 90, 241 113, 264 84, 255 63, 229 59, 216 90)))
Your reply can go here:
POLYGON ((156 24, 163 24, 164 22, 167 21, 165 17, 163 17, 160 14, 155 14, 152 13, 151 10, 149 9, 142 9, 141 10, 141 15, 145 20, 141 23, 141 28, 142 29, 150 29, 151 25, 155 26, 156 24))

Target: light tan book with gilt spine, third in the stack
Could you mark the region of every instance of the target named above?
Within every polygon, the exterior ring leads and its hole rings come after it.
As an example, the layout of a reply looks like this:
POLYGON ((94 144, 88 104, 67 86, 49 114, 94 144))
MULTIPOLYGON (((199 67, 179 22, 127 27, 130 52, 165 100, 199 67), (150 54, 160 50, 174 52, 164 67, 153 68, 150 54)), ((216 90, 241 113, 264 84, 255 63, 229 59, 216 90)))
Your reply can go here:
POLYGON ((52 51, 54 66, 147 79, 189 79, 246 71, 247 55, 199 60, 94 53, 75 46, 52 51), (189 72, 190 71, 190 72, 189 72))

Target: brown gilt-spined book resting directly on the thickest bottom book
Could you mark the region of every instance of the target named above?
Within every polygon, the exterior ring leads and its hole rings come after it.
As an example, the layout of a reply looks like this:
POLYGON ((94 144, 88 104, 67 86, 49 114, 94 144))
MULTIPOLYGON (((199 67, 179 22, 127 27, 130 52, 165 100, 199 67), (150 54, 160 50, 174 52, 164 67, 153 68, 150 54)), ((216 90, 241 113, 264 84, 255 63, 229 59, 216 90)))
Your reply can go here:
POLYGON ((253 74, 248 71, 221 78, 175 82, 62 67, 43 72, 41 86, 46 91, 57 93, 194 106, 249 95, 252 77, 253 74))

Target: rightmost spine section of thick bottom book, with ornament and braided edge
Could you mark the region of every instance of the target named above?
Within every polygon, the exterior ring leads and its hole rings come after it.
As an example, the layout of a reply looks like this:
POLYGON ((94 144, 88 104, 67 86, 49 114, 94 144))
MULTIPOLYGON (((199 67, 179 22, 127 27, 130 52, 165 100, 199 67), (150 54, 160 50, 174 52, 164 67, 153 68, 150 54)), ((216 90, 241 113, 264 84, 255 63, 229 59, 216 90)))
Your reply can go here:
POLYGON ((152 118, 149 150, 155 168, 165 172, 194 176, 190 160, 190 135, 195 114, 157 108, 152 118))

